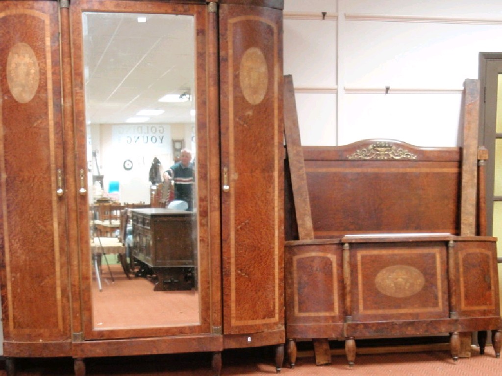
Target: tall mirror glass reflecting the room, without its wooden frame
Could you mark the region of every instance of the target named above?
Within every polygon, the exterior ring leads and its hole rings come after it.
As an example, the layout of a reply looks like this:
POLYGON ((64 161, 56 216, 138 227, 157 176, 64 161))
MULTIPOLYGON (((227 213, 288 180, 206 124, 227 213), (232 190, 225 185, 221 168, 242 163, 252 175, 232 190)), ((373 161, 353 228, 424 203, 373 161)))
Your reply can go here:
POLYGON ((199 324, 194 18, 82 22, 93 327, 199 324))

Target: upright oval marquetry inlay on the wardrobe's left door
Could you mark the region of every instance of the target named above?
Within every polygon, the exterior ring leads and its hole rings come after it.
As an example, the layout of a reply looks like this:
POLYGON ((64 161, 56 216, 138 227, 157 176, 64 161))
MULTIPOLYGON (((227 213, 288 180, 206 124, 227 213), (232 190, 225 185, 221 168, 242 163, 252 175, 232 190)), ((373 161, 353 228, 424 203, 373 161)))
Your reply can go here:
POLYGON ((20 103, 28 103, 38 89, 40 72, 37 57, 26 43, 17 43, 7 57, 7 84, 12 96, 20 103))

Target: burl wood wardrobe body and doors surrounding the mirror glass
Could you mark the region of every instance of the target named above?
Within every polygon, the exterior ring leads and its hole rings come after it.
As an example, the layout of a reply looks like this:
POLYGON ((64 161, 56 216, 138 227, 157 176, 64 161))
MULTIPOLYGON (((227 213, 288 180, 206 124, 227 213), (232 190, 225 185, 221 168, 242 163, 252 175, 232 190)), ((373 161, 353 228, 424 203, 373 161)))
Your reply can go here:
MULTIPOLYGON (((280 369, 282 9, 283 0, 0 3, 0 282, 10 376, 20 357, 72 357, 82 376, 88 357, 195 351, 212 352, 219 373, 224 349, 251 346, 275 346, 280 369), (123 14, 193 23, 196 322, 99 327, 93 313, 101 292, 89 236, 84 40, 93 17, 123 14)), ((127 53, 135 51, 114 59, 127 53)))

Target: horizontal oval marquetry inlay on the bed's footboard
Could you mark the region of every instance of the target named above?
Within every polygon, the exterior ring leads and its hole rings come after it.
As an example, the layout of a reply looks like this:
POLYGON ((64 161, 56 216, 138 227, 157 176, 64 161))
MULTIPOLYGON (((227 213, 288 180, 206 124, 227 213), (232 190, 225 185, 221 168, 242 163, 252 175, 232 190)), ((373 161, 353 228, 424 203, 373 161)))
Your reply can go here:
POLYGON ((425 284, 420 270, 408 265, 393 265, 382 269, 375 277, 376 288, 393 298, 406 298, 418 293, 425 284))

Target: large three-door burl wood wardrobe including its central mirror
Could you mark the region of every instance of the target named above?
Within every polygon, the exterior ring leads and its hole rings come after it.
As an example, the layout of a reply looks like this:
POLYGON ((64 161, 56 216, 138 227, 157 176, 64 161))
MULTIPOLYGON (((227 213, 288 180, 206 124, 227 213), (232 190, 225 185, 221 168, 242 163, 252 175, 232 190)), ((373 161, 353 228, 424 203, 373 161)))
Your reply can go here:
POLYGON ((70 356, 83 376, 88 357, 194 351, 212 352, 219 373, 224 349, 264 345, 276 346, 280 369, 282 8, 282 0, 0 3, 9 376, 21 357, 70 356), (191 149, 189 180, 163 174, 176 170, 179 139, 191 149), (158 179, 191 184, 191 211, 138 209, 158 179), (97 232, 92 208, 102 200, 119 202, 132 221, 97 232), (151 278, 122 270, 141 263, 151 278), (119 303, 133 291, 137 301, 119 303), (130 304, 172 307, 181 294, 190 316, 127 317, 130 304))

